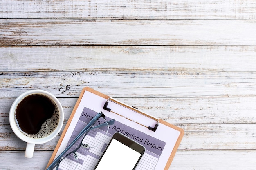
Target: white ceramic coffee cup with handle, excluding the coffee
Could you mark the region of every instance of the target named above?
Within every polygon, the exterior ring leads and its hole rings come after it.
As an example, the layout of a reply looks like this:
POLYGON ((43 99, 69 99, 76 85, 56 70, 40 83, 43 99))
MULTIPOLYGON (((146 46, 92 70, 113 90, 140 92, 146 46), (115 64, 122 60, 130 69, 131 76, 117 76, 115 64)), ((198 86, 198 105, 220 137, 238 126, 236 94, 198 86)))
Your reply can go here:
POLYGON ((20 138, 22 141, 27 142, 25 157, 28 157, 28 158, 33 157, 35 144, 44 144, 44 143, 54 139, 54 137, 56 137, 58 135, 58 133, 60 132, 60 130, 63 126, 63 121, 64 121, 64 113, 63 113, 63 108, 61 106, 61 103, 58 101, 58 99, 54 95, 52 95, 51 93, 49 93, 47 91, 43 91, 43 90, 30 90, 25 93, 22 93, 19 97, 16 98, 16 100, 11 105, 11 109, 10 109, 10 113, 9 113, 9 122, 11 125, 11 129, 13 130, 15 135, 18 136, 18 138, 20 138), (24 99, 25 97, 32 95, 32 94, 41 94, 41 95, 45 95, 45 96, 49 97, 56 104, 56 106, 58 107, 58 111, 59 111, 59 122, 58 122, 57 127, 55 128, 55 130, 52 133, 50 133, 49 135, 47 135, 43 138, 35 139, 35 138, 31 138, 31 137, 24 135, 19 130, 19 128, 16 124, 15 113, 16 113, 16 108, 17 108, 18 104, 22 101, 22 99, 24 99))

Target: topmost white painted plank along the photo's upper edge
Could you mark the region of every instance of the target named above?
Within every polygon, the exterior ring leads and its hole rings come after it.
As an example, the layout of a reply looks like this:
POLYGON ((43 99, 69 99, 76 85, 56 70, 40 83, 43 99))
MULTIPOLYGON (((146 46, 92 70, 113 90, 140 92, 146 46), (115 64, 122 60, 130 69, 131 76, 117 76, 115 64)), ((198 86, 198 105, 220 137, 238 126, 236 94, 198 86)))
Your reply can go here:
POLYGON ((251 0, 2 0, 0 18, 255 19, 251 0))

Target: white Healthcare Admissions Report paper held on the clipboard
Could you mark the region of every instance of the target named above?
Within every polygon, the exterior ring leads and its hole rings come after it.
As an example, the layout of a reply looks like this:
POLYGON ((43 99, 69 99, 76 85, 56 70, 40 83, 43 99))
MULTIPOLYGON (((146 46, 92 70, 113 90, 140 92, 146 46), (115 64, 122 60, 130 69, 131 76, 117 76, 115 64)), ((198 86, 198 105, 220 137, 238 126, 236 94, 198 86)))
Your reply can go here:
MULTIPOLYGON (((115 132, 126 135, 146 148, 135 170, 163 170, 180 135, 180 131, 159 123, 156 132, 153 132, 134 121, 104 110, 103 106, 105 102, 105 98, 85 91, 70 127, 57 151, 56 157, 69 146, 79 132, 81 132, 98 112, 102 111, 106 115, 105 118, 107 121, 115 119, 115 123, 110 126, 108 132, 107 127, 90 130, 83 143, 87 143, 92 147, 98 145, 94 148, 80 147, 77 151, 78 160, 74 159, 71 154, 60 163, 59 170, 93 170, 115 132), (101 141, 101 139, 103 140, 101 141)), ((113 110, 119 110, 121 115, 129 115, 131 118, 136 117, 134 111, 124 107, 120 108, 118 104, 110 104, 108 107, 111 107, 113 110)), ((144 124, 150 122, 148 126, 154 127, 152 120, 149 120, 149 118, 144 117, 143 121, 144 124)), ((97 124, 100 123, 97 122, 97 124)), ((70 150, 74 150, 80 142, 81 139, 70 150)), ((129 164, 129 159, 127 160, 127 164, 129 164)))

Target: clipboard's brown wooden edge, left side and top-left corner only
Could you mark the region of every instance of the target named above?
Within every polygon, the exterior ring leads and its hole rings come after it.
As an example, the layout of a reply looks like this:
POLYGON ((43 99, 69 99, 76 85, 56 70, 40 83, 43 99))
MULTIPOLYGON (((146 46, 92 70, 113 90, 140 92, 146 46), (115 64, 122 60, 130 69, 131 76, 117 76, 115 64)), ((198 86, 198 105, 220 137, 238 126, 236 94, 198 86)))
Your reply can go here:
MULTIPOLYGON (((78 108, 78 106, 79 106, 79 104, 80 104, 80 102, 81 102, 81 99, 82 99, 83 94, 85 93, 85 91, 89 91, 89 92, 94 93, 95 95, 101 96, 101 97, 103 97, 103 98, 105 98, 105 99, 108 99, 108 98, 109 98, 108 95, 104 95, 103 93, 100 93, 100 92, 98 92, 98 91, 96 91, 96 90, 94 90, 94 89, 92 89, 92 88, 90 88, 90 87, 85 87, 85 88, 83 88, 83 90, 81 91, 81 93, 80 93, 80 95, 79 95, 79 98, 78 98, 77 101, 76 101, 76 104, 75 104, 75 106, 74 106, 74 109, 73 109, 73 111, 72 111, 72 113, 71 113, 71 115, 70 115, 70 117, 69 117, 69 119, 68 119, 68 121, 67 121, 67 124, 66 124, 66 126, 65 126, 65 128, 64 128, 64 130, 63 130, 63 132, 62 132, 62 134, 61 134, 60 139, 58 140, 58 143, 57 143, 57 145, 56 145, 56 147, 55 147, 55 149, 54 149, 54 151, 53 151, 53 153, 52 153, 52 156, 51 156, 51 158, 50 158, 50 160, 49 160, 49 162, 48 162, 46 168, 54 161, 54 158, 55 158, 55 156, 56 156, 56 154, 57 154, 58 148, 61 146, 61 142, 63 141, 63 138, 64 138, 64 136, 65 136, 65 134, 66 134, 66 132, 67 132, 68 127, 70 126, 70 123, 71 123, 71 121, 72 121, 72 119, 73 119, 73 117, 74 117, 74 115, 75 115, 75 113, 76 113, 76 109, 78 108)), ((46 169, 46 168, 45 168, 45 169, 46 169)))

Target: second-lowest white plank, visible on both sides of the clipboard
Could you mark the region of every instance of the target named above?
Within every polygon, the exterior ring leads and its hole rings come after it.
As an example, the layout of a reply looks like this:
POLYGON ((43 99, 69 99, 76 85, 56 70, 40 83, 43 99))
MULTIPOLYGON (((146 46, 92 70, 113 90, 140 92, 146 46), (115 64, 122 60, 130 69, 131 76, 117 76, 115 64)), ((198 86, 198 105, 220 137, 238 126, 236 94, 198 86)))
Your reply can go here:
MULTIPOLYGON (((256 150, 256 124, 174 124, 184 129, 180 150, 256 150)), ((0 125, 0 150, 25 150, 9 125, 0 125)), ((35 150, 53 150, 61 133, 35 150)))

